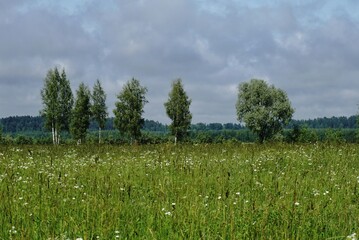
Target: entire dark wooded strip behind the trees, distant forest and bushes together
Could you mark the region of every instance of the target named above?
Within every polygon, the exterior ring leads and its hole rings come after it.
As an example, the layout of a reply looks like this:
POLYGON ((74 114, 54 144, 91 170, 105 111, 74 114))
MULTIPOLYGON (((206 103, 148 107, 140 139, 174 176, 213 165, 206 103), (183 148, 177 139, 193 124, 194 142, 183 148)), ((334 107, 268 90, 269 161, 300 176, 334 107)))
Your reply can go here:
MULTIPOLYGON (((51 134, 44 129, 40 116, 14 116, 0 119, 1 142, 3 144, 51 144, 51 134)), ((98 126, 91 121, 86 142, 96 143, 98 126)), ((140 143, 164 143, 173 141, 168 125, 145 120, 140 143)), ((62 134, 64 143, 73 144, 70 134, 62 134)), ((104 143, 125 144, 129 142, 113 127, 113 118, 108 118, 103 132, 104 143)), ((256 142, 257 136, 237 123, 192 124, 187 142, 223 143, 256 142)), ((358 142, 357 116, 292 120, 273 141, 282 142, 358 142)))

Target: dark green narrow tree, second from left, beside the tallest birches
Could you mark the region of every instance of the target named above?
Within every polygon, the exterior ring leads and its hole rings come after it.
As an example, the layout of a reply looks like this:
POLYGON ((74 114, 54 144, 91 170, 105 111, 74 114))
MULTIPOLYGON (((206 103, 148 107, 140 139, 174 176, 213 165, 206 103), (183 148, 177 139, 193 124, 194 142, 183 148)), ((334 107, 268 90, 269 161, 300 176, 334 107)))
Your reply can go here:
POLYGON ((81 143, 86 138, 87 129, 90 125, 91 104, 90 90, 84 83, 81 83, 76 91, 75 107, 72 110, 71 134, 81 143))

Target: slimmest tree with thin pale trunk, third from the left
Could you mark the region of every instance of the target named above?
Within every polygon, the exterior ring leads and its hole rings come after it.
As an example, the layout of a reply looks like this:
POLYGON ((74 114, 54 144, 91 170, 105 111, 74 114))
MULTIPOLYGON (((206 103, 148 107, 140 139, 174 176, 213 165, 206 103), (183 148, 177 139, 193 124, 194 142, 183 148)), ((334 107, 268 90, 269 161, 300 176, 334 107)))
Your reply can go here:
POLYGON ((106 107, 106 93, 98 79, 93 87, 91 112, 99 126, 98 142, 101 143, 101 130, 105 128, 108 113, 106 107))

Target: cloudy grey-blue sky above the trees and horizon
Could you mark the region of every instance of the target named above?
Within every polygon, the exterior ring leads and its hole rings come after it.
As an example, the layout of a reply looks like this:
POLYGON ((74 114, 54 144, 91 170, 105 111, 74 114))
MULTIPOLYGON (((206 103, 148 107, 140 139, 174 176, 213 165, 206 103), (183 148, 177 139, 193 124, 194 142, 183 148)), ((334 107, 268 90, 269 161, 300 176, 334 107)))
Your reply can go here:
POLYGON ((110 116, 132 78, 162 123, 178 78, 193 123, 237 122, 238 85, 253 78, 284 90, 294 119, 358 113, 357 0, 0 1, 0 33, 0 117, 39 115, 54 67, 74 94, 100 79, 110 116))

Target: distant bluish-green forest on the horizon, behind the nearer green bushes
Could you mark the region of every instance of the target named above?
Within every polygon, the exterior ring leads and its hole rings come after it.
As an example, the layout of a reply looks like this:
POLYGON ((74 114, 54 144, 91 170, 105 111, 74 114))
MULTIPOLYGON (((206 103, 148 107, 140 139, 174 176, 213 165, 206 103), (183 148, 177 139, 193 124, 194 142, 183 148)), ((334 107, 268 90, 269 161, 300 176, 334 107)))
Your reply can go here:
MULTIPOLYGON (((104 130, 115 130, 113 118, 108 118, 104 130)), ((293 129, 295 126, 309 129, 354 129, 357 127, 357 116, 316 118, 309 120, 292 120, 286 129, 293 129)), ((44 120, 42 117, 14 116, 0 119, 0 128, 4 134, 16 134, 22 132, 44 131, 44 120)), ((191 125, 191 131, 220 131, 240 130, 245 127, 238 123, 197 123, 191 125)), ((96 131, 98 126, 92 121, 90 131, 96 131)), ((143 131, 167 133, 168 126, 158 121, 145 120, 143 131)))

